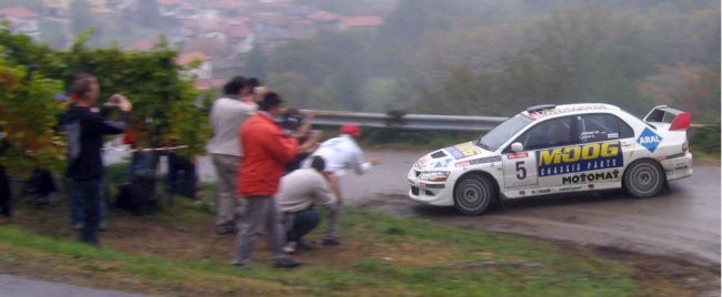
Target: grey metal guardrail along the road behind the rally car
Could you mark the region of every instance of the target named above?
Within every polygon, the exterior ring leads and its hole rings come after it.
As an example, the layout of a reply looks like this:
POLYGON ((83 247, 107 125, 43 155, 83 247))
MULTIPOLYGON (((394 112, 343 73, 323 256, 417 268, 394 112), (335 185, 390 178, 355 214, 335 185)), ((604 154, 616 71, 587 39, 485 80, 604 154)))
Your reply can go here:
POLYGON ((384 113, 309 111, 315 113, 313 124, 341 125, 355 123, 370 127, 398 127, 409 130, 438 131, 490 131, 508 117, 500 116, 465 116, 440 114, 404 114, 394 117, 384 113))

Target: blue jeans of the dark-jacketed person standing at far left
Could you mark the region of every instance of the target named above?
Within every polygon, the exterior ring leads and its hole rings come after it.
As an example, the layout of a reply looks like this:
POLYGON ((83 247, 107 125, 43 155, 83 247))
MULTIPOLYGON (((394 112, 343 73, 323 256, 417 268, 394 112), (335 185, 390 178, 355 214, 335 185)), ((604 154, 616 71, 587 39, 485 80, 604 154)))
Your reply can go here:
POLYGON ((102 198, 103 182, 101 180, 71 181, 71 196, 82 205, 82 229, 80 242, 98 245, 98 227, 100 223, 100 201, 102 198))

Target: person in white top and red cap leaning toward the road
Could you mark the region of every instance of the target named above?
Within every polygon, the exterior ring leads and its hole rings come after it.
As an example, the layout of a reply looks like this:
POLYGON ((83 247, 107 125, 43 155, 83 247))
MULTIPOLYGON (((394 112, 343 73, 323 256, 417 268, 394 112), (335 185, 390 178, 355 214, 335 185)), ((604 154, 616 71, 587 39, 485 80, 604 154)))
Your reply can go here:
POLYGON ((363 151, 355 142, 361 135, 361 130, 355 124, 341 125, 341 134, 321 143, 313 156, 321 156, 325 161, 325 168, 330 172, 329 181, 331 191, 337 196, 338 212, 331 212, 329 217, 329 227, 323 238, 323 245, 340 245, 339 240, 339 218, 341 215, 341 204, 343 195, 340 187, 340 178, 353 170, 357 174, 368 172, 373 165, 378 164, 375 158, 364 158, 363 151))

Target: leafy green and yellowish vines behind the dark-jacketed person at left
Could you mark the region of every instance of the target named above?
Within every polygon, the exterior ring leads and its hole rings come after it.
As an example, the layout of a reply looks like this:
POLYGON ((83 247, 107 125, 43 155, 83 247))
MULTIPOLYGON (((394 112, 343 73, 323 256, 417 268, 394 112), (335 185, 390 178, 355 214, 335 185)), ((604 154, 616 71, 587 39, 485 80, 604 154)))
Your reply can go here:
MULTIPOLYGON (((47 134, 50 132, 37 132, 57 125, 56 116, 62 111, 53 98, 68 88, 78 73, 92 73, 100 82, 98 104, 103 104, 114 93, 124 94, 133 103, 130 130, 138 146, 189 145, 190 148, 178 151, 183 157, 203 152, 210 135, 203 109, 209 94, 199 93, 192 85, 192 78, 185 78, 185 69, 174 62, 177 52, 163 39, 147 52, 124 52, 118 47, 90 49, 86 45, 90 33, 79 35, 71 49, 54 51, 33 43, 27 35, 13 34, 7 29, 0 31, 0 47, 4 49, 0 62, 4 66, 3 73, 8 73, 0 83, 2 92, 8 92, 0 99, 3 102, 0 112, 28 117, 22 119, 24 121, 32 120, 27 124, 8 123, 6 131, 18 129, 10 131, 8 137, 21 137, 32 132, 46 142, 53 140, 47 134), (36 72, 28 81, 22 78, 29 66, 36 72), (20 101, 20 98, 24 100, 20 101)), ((3 115, 1 119, 7 121, 9 117, 3 115)), ((30 150, 37 155, 62 158, 64 153, 58 146, 38 146, 31 142, 14 142, 11 147, 2 155, 10 157, 9 152, 20 154, 30 150)), ((28 166, 21 167, 28 170, 28 166)))

